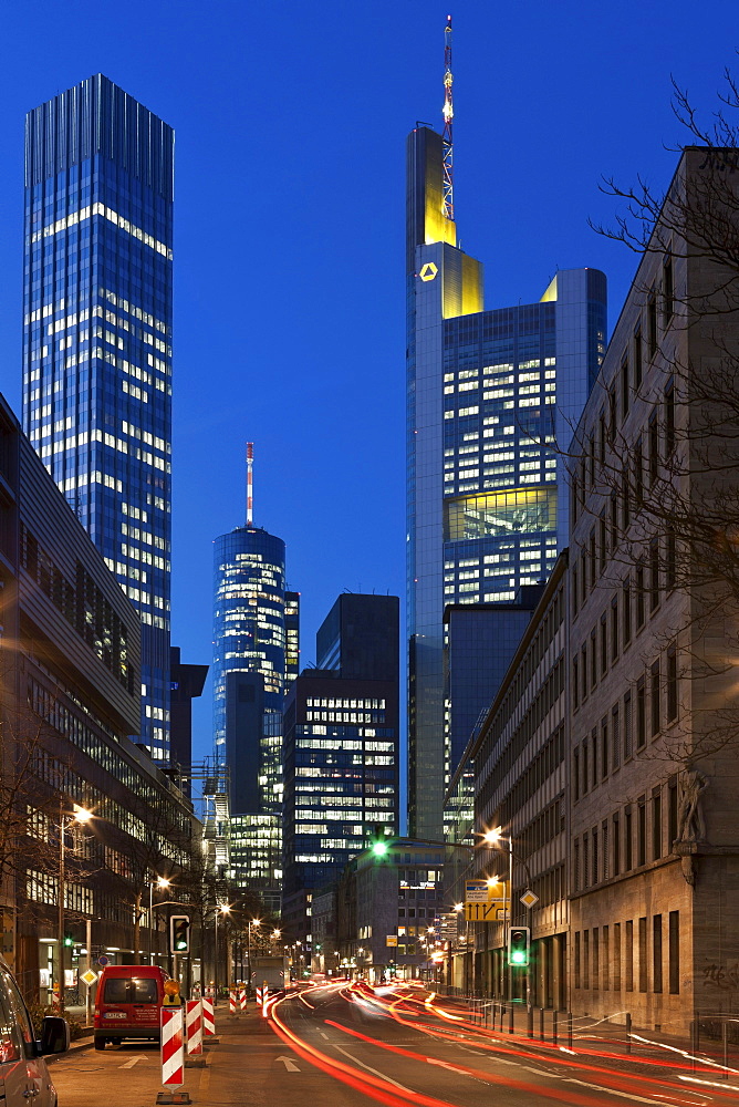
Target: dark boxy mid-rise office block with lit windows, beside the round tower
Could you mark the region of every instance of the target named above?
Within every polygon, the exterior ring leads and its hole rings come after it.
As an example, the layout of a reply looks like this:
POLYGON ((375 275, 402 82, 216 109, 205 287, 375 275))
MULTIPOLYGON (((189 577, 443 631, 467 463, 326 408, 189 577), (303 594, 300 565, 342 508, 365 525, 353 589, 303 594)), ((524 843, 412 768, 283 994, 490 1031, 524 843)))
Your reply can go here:
POLYGON ((340 597, 316 654, 341 668, 303 670, 285 705, 283 919, 296 937, 313 889, 398 831, 397 597, 340 597))

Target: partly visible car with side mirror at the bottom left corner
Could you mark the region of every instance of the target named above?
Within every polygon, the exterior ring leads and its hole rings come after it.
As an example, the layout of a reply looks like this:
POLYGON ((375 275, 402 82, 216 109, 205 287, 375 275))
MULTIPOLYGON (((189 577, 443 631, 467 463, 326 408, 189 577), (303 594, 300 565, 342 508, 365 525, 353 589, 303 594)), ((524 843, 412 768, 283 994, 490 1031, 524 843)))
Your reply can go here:
POLYGON ((58 1107, 45 1055, 70 1047, 70 1027, 63 1018, 43 1020, 41 1039, 8 965, 0 961, 0 1103, 3 1107, 58 1107))

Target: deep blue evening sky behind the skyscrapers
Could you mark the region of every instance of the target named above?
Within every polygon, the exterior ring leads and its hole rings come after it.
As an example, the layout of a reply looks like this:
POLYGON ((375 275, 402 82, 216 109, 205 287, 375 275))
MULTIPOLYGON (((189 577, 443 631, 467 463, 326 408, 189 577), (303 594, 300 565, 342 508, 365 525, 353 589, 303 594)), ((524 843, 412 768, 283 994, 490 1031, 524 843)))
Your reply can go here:
MULTIPOLYGON (((730 0, 4 0, 0 4, 0 389, 20 413, 23 116, 103 72, 177 133, 173 642, 210 661, 212 539, 243 520, 288 544, 302 660, 343 589, 404 596, 404 169, 440 126, 455 24, 457 225, 487 307, 559 268, 610 278, 601 174, 667 184, 670 74, 716 104, 730 0)), ((737 65, 739 71, 739 64, 737 65)), ((196 756, 210 752, 210 699, 196 756)))

